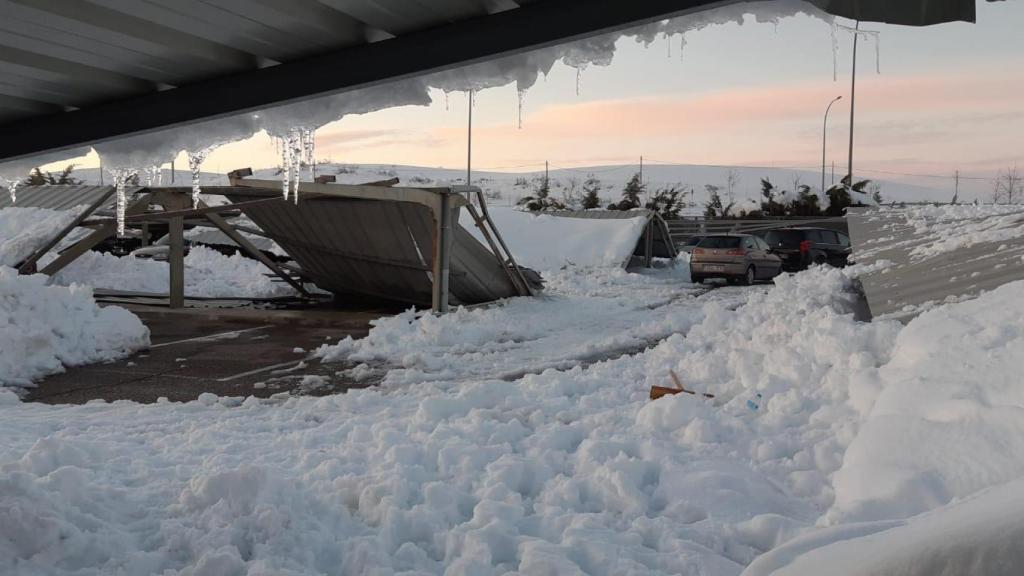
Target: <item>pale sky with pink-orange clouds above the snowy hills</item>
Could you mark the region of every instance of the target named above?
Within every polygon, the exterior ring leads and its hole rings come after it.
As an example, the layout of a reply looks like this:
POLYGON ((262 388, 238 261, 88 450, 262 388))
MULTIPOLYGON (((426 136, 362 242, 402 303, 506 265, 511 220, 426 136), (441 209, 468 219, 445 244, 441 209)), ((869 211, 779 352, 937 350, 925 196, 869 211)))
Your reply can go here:
MULTIPOLYGON (((858 57, 855 162, 877 171, 867 175, 959 169, 988 176, 1024 166, 1024 2, 979 2, 978 9, 977 25, 864 25, 881 31, 881 74, 873 42, 861 41, 858 57)), ((828 155, 845 166, 852 38, 842 31, 839 38, 837 81, 831 29, 806 16, 777 27, 752 19, 711 27, 688 35, 682 53, 678 39, 649 48, 621 40, 611 66, 583 74, 579 95, 575 71, 556 65, 527 93, 522 128, 514 87, 478 93, 474 168, 623 164, 642 155, 813 170, 821 162, 822 115, 837 95, 843 99, 829 116, 828 155)), ((316 156, 463 167, 466 112, 464 94, 445 102, 437 92, 429 107, 346 117, 321 128, 316 156)), ((203 168, 279 163, 269 139, 257 135, 215 151, 203 168)))

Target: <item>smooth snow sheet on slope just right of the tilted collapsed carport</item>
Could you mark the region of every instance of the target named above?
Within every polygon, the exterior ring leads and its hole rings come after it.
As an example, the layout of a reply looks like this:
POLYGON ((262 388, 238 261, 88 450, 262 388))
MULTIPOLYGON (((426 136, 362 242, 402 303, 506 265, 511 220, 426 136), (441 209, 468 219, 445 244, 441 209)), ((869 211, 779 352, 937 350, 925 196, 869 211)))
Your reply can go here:
MULTIPOLYGON (((647 224, 642 215, 601 220, 532 214, 512 208, 489 211, 516 262, 542 272, 566 265, 624 266, 647 224)), ((484 242, 476 227, 463 225, 484 242)))

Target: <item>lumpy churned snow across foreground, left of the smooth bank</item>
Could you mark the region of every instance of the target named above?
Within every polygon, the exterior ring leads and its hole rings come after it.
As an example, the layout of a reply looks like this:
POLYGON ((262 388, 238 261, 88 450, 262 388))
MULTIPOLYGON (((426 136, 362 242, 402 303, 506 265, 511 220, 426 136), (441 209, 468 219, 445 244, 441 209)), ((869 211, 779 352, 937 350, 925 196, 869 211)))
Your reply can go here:
POLYGON ((736 575, 812 525, 851 436, 844 390, 886 361, 898 325, 854 322, 834 271, 701 296, 674 271, 563 274, 562 305, 591 316, 566 354, 621 331, 603 323, 616 306, 638 325, 675 317, 679 333, 568 370, 474 374, 458 353, 478 346, 441 329, 492 342, 481 363, 504 346, 528 366, 567 315, 523 298, 506 305, 534 303, 541 327, 503 333, 501 306, 375 327, 390 364, 415 349, 446 364, 416 385, 7 410, 0 571, 736 575), (670 369, 717 398, 648 401, 670 369))

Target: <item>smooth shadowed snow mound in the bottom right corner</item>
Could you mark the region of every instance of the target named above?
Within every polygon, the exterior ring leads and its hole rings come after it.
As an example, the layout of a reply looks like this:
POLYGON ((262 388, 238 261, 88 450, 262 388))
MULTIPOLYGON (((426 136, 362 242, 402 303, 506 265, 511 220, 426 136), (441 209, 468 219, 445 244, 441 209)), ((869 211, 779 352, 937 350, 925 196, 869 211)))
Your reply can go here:
POLYGON ((743 576, 1016 576, 1024 566, 1024 480, 909 521, 843 525, 794 539, 743 576))

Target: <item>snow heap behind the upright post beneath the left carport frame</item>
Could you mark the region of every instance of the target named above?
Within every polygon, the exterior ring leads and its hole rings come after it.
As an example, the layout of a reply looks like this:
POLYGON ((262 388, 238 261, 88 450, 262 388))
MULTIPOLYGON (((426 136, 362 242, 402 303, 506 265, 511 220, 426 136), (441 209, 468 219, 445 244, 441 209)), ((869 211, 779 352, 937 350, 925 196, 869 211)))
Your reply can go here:
MULTIPOLYGON (((198 297, 269 298, 294 294, 287 284, 273 282, 269 270, 241 254, 225 256, 205 246, 193 246, 185 256, 185 294, 198 297)), ((167 262, 86 252, 58 272, 57 284, 85 284, 93 288, 166 294, 167 262)))

